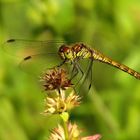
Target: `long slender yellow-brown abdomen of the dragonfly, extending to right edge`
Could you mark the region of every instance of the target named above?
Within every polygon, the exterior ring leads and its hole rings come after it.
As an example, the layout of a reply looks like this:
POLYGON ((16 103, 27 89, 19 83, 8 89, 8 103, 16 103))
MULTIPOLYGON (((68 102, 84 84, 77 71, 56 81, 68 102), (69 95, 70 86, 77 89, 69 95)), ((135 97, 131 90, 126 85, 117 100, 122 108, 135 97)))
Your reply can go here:
POLYGON ((109 65, 111 65, 113 67, 116 67, 116 68, 118 68, 118 69, 120 69, 120 70, 122 70, 122 71, 124 71, 124 72, 126 72, 126 73, 128 73, 128 74, 130 74, 132 76, 134 76, 137 79, 140 79, 140 73, 139 72, 136 72, 135 70, 127 67, 126 65, 120 64, 120 63, 118 63, 118 62, 116 62, 116 61, 104 56, 103 54, 100 54, 99 52, 94 53, 93 58, 95 60, 100 61, 100 62, 103 62, 103 63, 109 64, 109 65))

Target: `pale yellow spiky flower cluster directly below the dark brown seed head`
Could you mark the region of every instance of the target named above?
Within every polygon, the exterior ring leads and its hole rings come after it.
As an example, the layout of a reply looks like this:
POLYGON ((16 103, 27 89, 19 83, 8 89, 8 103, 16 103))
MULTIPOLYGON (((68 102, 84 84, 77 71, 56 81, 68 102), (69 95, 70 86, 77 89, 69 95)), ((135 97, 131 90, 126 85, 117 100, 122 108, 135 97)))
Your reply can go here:
POLYGON ((71 92, 66 96, 65 91, 61 91, 56 97, 46 97, 45 111, 43 114, 60 114, 79 106, 81 97, 71 92))

